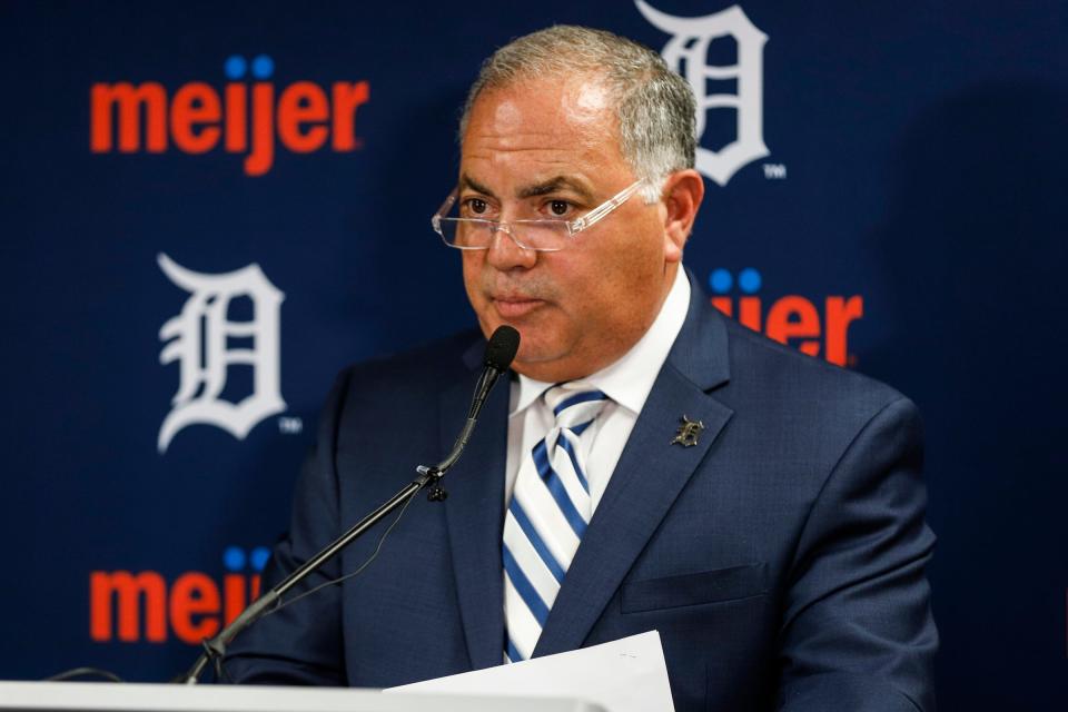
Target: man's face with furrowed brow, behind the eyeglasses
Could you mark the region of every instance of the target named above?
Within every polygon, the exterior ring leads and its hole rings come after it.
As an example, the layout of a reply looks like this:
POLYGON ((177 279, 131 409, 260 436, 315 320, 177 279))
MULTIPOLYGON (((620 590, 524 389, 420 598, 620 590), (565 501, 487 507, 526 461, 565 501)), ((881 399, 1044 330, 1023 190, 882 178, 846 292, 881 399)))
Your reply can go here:
MULTIPOLYGON (((610 97, 589 77, 521 80, 483 92, 461 157, 465 217, 575 219, 635 181, 610 97)), ((681 258, 663 204, 632 196, 566 249, 536 253, 497 233, 463 253, 467 297, 488 337, 520 330, 513 368, 563 382, 619 359, 652 325, 681 258)))

